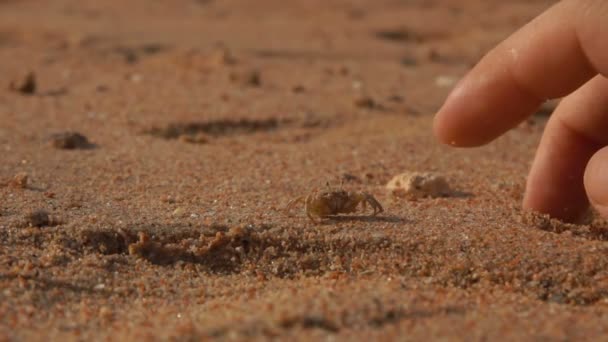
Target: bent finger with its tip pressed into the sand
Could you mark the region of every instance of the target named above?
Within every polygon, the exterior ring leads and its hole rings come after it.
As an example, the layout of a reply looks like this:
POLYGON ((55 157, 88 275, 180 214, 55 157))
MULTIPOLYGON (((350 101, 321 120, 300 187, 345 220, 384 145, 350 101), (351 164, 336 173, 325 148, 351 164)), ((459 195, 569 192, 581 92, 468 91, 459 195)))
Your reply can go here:
POLYGON ((585 167, 608 145, 607 131, 608 79, 596 76, 562 100, 549 119, 528 176, 524 208, 576 221, 589 206, 585 167))

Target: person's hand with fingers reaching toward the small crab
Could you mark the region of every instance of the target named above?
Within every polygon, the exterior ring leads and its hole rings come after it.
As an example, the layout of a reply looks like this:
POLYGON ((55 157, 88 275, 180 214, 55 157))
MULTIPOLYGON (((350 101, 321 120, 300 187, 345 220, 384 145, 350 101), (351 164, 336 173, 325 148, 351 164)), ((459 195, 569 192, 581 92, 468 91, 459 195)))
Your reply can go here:
POLYGON ((490 51, 435 117, 443 143, 486 144, 561 98, 528 175, 523 206, 608 218, 608 1, 563 0, 490 51))

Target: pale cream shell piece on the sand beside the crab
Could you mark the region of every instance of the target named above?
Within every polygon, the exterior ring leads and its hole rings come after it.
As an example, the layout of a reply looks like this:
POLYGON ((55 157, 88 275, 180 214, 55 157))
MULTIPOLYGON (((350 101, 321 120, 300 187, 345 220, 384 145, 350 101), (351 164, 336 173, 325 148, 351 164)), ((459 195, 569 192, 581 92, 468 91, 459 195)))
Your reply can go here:
POLYGON ((405 172, 391 179, 386 188, 393 195, 409 198, 444 197, 451 193, 448 182, 432 172, 405 172))

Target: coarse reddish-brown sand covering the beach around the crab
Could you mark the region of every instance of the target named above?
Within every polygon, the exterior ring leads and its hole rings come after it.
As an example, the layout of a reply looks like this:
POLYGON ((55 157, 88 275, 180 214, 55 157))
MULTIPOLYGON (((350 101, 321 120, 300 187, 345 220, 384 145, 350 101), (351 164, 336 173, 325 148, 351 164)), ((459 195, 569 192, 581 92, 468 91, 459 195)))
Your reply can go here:
POLYGON ((550 4, 0 1, 0 340, 605 338, 605 225, 519 207, 546 116, 430 130, 550 4), (282 213, 341 179, 385 212, 282 213))

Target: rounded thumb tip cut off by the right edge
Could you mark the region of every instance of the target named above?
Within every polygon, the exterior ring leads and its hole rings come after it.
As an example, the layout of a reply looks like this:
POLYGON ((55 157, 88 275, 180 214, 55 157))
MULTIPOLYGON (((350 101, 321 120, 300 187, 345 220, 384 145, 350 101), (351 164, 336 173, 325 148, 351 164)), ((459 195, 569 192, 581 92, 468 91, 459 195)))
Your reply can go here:
POLYGON ((608 147, 597 151, 587 163, 585 191, 593 207, 608 218, 608 147))

